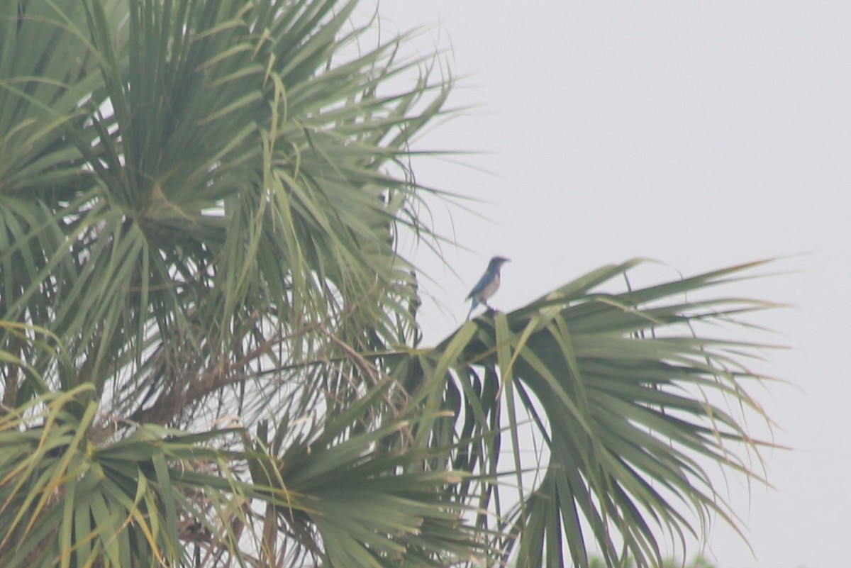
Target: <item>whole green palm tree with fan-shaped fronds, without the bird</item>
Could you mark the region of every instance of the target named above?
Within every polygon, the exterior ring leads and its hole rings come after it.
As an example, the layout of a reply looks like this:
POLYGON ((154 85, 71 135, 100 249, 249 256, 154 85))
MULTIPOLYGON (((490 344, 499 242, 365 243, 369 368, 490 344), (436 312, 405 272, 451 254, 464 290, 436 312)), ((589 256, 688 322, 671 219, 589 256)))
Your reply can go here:
POLYGON ((356 7, 0 4, 0 565, 644 566, 734 523, 758 346, 703 324, 768 304, 700 290, 753 266, 421 347, 397 235, 439 238, 410 143, 452 80, 356 7))

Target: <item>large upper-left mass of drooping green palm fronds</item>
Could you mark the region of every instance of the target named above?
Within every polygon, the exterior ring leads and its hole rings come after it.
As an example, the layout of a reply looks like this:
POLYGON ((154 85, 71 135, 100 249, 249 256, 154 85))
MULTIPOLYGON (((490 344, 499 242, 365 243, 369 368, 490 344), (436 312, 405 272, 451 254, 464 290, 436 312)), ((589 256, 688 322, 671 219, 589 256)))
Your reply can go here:
POLYGON ((430 230, 405 156, 448 83, 383 93, 421 62, 397 61, 398 40, 353 52, 355 5, 23 2, 3 20, 76 66, 45 49, 24 69, 26 44, 4 44, 2 315, 59 336, 74 382, 124 417, 180 420, 337 341, 413 337, 395 239, 430 230))

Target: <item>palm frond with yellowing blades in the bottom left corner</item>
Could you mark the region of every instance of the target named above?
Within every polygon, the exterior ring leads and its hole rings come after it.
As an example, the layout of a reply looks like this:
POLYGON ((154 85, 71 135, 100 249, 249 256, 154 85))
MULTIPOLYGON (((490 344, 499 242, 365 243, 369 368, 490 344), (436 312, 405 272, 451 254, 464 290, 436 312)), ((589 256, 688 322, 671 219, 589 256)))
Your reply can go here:
POLYGON ((110 433, 96 426, 94 402, 73 412, 91 389, 45 395, 0 419, 0 564, 180 565, 202 521, 207 542, 237 548, 223 519, 199 520, 187 497, 226 490, 231 507, 219 512, 234 514, 247 491, 222 476, 227 453, 208 443, 231 433, 142 426, 98 440, 110 433))

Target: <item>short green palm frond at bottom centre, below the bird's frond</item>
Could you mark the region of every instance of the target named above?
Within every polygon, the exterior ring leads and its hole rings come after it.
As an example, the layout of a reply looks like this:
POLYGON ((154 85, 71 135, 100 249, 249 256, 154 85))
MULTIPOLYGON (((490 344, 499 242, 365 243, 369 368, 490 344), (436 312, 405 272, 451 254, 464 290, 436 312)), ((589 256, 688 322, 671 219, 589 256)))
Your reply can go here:
MULTIPOLYGON (((275 440, 264 440, 269 425, 261 423, 249 442, 254 486, 268 486, 278 496, 266 524, 294 537, 292 559, 310 555, 333 566, 447 566, 494 555, 465 518, 468 506, 447 491, 463 474, 424 467, 442 462, 445 449, 403 444, 387 451, 387 440, 406 439, 430 417, 417 406, 376 413, 392 388, 385 379, 345 411, 296 434, 287 423, 277 424, 275 440), (379 422, 368 425, 369 416, 379 422), (293 439, 283 444, 283 436, 293 439)), ((274 548, 270 543, 264 549, 274 548)))

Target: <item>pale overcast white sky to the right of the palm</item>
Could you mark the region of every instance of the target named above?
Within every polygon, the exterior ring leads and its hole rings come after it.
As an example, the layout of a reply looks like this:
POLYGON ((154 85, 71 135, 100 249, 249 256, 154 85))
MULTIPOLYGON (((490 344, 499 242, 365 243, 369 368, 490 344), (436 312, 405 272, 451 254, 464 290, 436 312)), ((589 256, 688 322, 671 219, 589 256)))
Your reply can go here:
POLYGON ((416 146, 483 152, 415 169, 487 202, 451 224, 433 211, 469 250, 444 247, 457 275, 416 257, 436 278, 428 342, 463 321, 494 254, 513 259, 502 310, 636 256, 687 275, 791 257, 734 292, 797 306, 756 319, 792 348, 765 367, 789 384, 758 398, 794 450, 766 454, 773 490, 748 500, 731 483, 753 554, 721 525, 702 552, 719 568, 847 565, 851 2, 384 0, 379 14, 382 33, 426 26, 411 49, 449 48, 465 77, 450 103, 477 105, 416 146))

